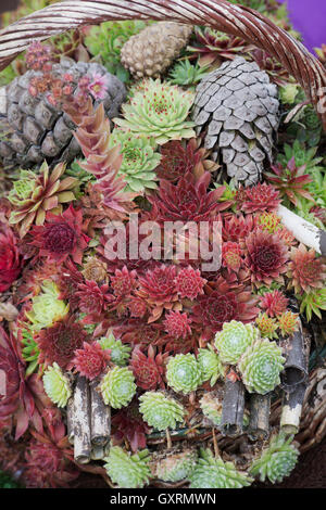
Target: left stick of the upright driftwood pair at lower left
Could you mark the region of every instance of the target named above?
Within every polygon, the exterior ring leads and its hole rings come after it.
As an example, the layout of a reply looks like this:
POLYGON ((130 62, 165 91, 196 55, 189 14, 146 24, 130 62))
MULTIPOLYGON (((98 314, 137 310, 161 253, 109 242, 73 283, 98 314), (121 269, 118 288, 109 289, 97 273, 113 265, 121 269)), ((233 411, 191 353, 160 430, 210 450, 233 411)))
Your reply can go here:
POLYGON ((78 377, 74 393, 74 457, 86 464, 90 460, 90 398, 86 378, 78 377))

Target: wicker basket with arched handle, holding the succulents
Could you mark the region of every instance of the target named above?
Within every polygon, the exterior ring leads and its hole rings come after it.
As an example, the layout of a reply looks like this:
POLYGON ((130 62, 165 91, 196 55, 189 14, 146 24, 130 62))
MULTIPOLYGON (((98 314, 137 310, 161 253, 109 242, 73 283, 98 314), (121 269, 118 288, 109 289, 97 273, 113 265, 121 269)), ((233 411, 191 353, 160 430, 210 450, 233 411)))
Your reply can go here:
MULTIPOLYGON (((277 59, 303 87, 315 105, 326 129, 326 69, 300 42, 268 18, 249 8, 230 4, 226 0, 68 0, 37 11, 0 31, 0 69, 24 51, 33 41, 45 40, 71 28, 99 24, 113 20, 175 21, 192 25, 206 25, 231 34, 265 50, 277 59)), ((326 366, 310 374, 303 404, 301 428, 296 439, 305 451, 326 435, 326 366)), ((271 424, 277 425, 281 412, 280 399, 272 405, 271 424)), ((212 432, 193 436, 208 439, 212 432)), ((178 441, 184 437, 178 437, 178 441)), ((189 435, 187 436, 189 438, 189 435)), ((216 436, 218 446, 233 457, 239 447, 246 450, 243 436, 216 436)), ((177 439, 177 437, 176 437, 177 439)), ((152 439, 153 443, 158 443, 152 439)), ((250 450, 251 451, 251 450, 250 450)), ((250 456, 250 451, 248 455, 250 456)), ((253 452, 253 451, 252 451, 253 452)), ((102 475, 110 484, 105 471, 99 466, 80 467, 86 472, 102 475)), ((181 486, 163 484, 160 486, 181 486)))

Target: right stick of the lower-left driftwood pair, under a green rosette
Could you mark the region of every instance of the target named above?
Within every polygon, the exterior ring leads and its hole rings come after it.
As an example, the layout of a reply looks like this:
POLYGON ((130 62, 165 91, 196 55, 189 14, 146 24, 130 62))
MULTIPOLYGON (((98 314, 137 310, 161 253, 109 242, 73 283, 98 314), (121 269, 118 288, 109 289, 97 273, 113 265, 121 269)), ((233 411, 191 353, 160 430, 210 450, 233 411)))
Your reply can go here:
POLYGON ((90 439, 92 446, 104 446, 111 435, 111 408, 105 406, 103 398, 97 392, 98 381, 92 381, 90 387, 90 439))

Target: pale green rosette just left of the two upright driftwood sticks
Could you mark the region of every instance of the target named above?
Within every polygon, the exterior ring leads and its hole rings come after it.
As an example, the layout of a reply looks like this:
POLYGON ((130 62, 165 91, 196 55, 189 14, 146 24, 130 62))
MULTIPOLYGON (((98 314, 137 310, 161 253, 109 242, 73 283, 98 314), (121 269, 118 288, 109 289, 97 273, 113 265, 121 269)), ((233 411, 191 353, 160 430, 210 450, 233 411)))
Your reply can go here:
POLYGON ((72 395, 68 378, 63 373, 58 364, 49 367, 43 374, 43 386, 48 397, 58 407, 65 407, 72 395))

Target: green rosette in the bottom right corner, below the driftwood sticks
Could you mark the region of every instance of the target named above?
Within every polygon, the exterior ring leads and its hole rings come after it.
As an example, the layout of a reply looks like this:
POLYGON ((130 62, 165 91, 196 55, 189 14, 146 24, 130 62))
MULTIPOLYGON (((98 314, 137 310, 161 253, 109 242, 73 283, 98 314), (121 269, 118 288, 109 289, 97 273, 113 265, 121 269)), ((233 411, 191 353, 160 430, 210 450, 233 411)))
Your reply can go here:
POLYGON ((268 447, 253 461, 250 474, 259 477, 261 482, 268 479, 273 484, 289 476, 299 457, 299 450, 290 444, 291 442, 292 437, 286 439, 284 434, 272 437, 268 447))

